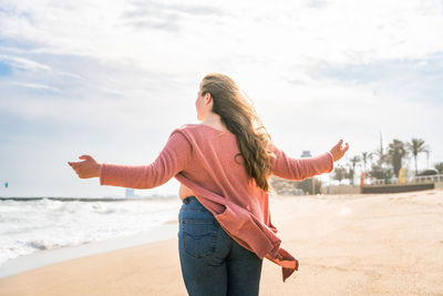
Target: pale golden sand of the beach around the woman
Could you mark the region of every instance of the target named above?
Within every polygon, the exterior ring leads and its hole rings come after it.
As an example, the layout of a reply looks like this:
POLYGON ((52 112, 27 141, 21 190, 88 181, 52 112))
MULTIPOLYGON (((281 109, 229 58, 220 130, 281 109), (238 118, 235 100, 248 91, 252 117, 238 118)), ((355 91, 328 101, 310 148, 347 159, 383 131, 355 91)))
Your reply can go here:
MULTIPOLYGON (((441 190, 272 195, 271 218, 300 266, 282 283, 265 259, 260 295, 443 295, 441 190)), ((0 295, 187 295, 177 244, 174 235, 11 275, 0 295)))

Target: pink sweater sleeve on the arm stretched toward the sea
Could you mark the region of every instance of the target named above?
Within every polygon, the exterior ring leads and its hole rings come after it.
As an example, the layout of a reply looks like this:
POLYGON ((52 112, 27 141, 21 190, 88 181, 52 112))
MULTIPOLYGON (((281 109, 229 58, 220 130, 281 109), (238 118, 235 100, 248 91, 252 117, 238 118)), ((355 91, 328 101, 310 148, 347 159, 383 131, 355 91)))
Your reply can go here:
POLYGON ((173 131, 157 159, 148 165, 102 164, 100 185, 153 188, 186 170, 192 145, 184 134, 173 131))

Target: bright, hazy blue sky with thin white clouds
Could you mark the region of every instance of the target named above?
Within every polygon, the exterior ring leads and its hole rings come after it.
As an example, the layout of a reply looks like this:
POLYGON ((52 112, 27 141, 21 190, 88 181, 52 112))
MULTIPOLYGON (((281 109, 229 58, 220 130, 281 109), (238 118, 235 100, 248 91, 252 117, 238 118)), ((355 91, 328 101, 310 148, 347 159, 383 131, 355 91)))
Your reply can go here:
POLYGON ((237 82, 290 156, 343 139, 346 165, 381 133, 423 139, 424 170, 443 161, 442 28, 442 0, 0 0, 0 196, 123 196, 68 162, 152 163, 199 123, 209 72, 237 82))

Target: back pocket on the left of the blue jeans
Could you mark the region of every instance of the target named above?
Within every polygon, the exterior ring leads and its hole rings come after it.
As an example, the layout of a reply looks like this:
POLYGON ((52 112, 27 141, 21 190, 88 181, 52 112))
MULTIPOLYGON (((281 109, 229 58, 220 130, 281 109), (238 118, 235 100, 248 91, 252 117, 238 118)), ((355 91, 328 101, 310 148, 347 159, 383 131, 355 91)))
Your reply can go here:
POLYGON ((218 228, 216 220, 182 220, 184 251, 196 258, 214 254, 218 228))

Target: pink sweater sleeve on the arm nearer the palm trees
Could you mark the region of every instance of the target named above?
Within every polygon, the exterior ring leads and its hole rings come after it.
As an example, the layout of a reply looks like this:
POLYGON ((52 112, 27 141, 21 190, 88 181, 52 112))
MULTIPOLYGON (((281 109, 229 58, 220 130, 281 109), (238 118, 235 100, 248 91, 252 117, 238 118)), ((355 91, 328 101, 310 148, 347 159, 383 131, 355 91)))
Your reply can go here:
POLYGON ((271 157, 272 174, 286 180, 301 181, 333 169, 333 159, 330 152, 315 157, 293 159, 272 145, 275 157, 271 157))

